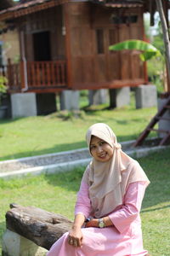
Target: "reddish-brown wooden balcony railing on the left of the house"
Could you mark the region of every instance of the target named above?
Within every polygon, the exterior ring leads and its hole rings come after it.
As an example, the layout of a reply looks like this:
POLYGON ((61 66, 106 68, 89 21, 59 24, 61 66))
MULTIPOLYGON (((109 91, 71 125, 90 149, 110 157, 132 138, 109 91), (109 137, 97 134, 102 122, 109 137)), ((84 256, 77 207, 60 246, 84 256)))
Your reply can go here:
POLYGON ((66 89, 65 61, 20 61, 0 67, 9 92, 55 92, 66 89))

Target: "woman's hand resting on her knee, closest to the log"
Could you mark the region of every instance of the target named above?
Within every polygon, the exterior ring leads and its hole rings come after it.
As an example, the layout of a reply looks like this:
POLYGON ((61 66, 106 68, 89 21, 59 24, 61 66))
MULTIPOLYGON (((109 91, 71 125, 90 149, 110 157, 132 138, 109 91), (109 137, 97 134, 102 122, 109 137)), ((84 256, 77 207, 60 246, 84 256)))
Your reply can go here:
POLYGON ((69 232, 68 243, 73 247, 82 246, 82 230, 77 228, 72 228, 69 232))

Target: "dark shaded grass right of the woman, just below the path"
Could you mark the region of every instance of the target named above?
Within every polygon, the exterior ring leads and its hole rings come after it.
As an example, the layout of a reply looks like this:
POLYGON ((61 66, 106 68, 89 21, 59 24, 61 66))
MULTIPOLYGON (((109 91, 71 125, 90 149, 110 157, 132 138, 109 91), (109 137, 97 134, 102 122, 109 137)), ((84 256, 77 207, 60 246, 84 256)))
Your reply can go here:
MULTIPOLYGON (((156 206, 160 203, 169 202, 170 198, 170 148, 162 150, 147 157, 140 158, 139 163, 144 168, 144 172, 150 179, 150 185, 146 189, 142 212, 155 211, 155 209, 144 210, 144 208, 156 206)), ((162 206, 162 208, 169 207, 162 206)), ((161 207, 157 207, 161 210, 161 207)))

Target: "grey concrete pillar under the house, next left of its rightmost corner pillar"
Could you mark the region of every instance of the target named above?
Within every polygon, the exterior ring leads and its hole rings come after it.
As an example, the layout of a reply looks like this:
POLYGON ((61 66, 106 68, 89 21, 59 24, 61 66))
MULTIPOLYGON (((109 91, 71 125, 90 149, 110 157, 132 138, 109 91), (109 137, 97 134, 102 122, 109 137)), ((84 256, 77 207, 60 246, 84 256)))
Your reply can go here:
POLYGON ((121 108, 130 104, 130 87, 110 89, 110 107, 121 108))

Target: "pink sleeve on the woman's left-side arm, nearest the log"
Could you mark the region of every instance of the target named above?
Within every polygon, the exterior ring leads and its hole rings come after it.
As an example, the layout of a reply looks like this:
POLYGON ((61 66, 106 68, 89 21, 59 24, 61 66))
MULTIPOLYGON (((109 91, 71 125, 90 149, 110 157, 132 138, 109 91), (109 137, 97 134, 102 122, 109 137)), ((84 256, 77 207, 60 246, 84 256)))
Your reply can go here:
POLYGON ((90 204, 90 199, 88 197, 88 184, 82 181, 80 190, 77 193, 75 215, 77 213, 82 213, 86 218, 88 218, 90 212, 91 212, 91 204, 90 204))

